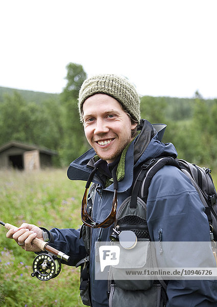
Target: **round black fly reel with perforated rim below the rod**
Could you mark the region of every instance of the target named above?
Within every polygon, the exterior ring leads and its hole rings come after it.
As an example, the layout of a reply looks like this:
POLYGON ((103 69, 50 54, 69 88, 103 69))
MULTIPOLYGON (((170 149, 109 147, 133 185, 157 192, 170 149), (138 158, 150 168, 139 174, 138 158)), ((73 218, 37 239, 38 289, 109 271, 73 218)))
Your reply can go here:
POLYGON ((46 281, 55 278, 61 271, 61 261, 50 254, 39 254, 33 261, 32 277, 36 276, 39 280, 46 281))

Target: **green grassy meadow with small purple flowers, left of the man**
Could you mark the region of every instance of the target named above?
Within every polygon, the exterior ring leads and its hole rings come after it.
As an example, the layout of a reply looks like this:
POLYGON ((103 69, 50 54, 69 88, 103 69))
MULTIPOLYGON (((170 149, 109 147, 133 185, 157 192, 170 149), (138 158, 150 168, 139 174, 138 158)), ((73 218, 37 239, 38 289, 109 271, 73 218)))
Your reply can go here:
MULTIPOLYGON (((23 222, 47 229, 79 228, 84 182, 67 179, 66 169, 33 172, 0 171, 0 220, 19 226, 23 222)), ((83 306, 80 270, 62 266, 49 281, 31 277, 36 256, 22 250, 0 227, 0 306, 83 306)))

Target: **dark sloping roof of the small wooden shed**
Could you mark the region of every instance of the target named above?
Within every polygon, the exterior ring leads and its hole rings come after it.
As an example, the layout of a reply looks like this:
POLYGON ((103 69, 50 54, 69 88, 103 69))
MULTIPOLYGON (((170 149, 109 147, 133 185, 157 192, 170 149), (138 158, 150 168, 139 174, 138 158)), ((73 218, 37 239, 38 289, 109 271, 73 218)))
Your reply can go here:
POLYGON ((47 155, 54 156, 57 155, 58 152, 53 149, 48 149, 46 147, 40 147, 35 144, 29 144, 29 143, 23 143, 18 141, 10 141, 8 143, 5 143, 0 147, 0 152, 7 150, 10 147, 18 147, 26 150, 39 150, 39 152, 46 153, 47 155))

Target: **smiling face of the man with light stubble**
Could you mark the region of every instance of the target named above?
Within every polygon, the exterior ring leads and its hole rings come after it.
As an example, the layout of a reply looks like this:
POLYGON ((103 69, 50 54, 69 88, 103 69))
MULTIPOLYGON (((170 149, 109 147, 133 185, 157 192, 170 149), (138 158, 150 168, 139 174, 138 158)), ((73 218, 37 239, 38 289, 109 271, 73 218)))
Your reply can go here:
POLYGON ((97 155, 113 162, 132 140, 130 117, 120 103, 105 94, 95 94, 83 104, 84 132, 97 155))

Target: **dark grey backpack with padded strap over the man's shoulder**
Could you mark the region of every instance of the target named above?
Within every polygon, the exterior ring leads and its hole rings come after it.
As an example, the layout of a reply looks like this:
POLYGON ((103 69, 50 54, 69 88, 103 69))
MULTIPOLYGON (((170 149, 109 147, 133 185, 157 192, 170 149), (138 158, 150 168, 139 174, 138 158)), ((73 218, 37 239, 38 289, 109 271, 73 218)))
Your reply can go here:
POLYGON ((151 180, 164 165, 176 166, 190 179, 205 207, 205 213, 210 225, 210 238, 217 241, 217 193, 211 177, 211 170, 208 167, 202 168, 196 164, 172 157, 151 159, 141 166, 140 178, 136 179, 141 183, 137 187, 137 190, 140 190, 141 199, 144 203, 147 202, 151 180))

